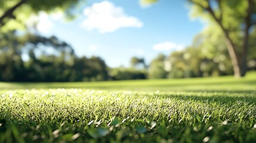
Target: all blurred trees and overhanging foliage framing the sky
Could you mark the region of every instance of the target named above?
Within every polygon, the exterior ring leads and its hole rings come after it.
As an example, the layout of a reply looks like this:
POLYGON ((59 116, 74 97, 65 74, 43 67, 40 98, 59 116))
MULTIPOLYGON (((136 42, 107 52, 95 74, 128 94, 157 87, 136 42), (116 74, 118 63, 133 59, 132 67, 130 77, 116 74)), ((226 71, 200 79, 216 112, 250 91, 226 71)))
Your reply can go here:
MULTIPOLYGON (((150 4, 157 0, 142 2, 150 4)), ((143 58, 133 57, 131 67, 110 69, 100 57, 77 57, 68 43, 55 36, 46 38, 29 32, 31 27, 26 26, 26 20, 40 11, 48 14, 62 11, 67 20, 73 20, 84 1, 1 1, 0 80, 64 82, 228 74, 242 77, 246 71, 255 70, 256 1, 187 2, 192 17, 208 21, 208 27, 195 37, 192 45, 183 51, 159 55, 149 65, 143 58)))

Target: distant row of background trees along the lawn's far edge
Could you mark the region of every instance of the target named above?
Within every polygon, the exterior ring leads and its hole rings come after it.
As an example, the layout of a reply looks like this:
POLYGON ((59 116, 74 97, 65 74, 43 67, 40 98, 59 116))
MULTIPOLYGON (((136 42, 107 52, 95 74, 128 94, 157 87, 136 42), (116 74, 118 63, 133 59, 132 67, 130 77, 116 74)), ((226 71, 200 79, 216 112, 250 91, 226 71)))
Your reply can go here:
MULTIPOLYGON (((11 31, 1 35, 0 80, 6 82, 79 82, 129 79, 208 77, 233 74, 221 32, 203 30, 191 46, 159 54, 149 64, 132 57, 130 67, 110 68, 100 57, 77 57, 72 46, 55 36, 49 38, 11 31)), ((250 35, 249 70, 256 70, 256 29, 250 35)))

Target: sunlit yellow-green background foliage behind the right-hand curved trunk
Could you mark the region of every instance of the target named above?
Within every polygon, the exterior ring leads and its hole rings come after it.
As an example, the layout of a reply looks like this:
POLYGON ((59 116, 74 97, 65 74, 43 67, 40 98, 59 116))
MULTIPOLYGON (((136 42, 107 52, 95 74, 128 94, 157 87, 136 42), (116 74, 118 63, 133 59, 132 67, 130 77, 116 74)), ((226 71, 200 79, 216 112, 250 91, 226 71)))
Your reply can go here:
MULTIPOLYGON (((250 33, 247 64, 249 70, 256 67, 255 63, 255 31, 250 33), (251 63, 251 64, 250 64, 251 63)), ((233 35, 236 45, 242 45, 240 35, 233 35)), ((220 28, 216 25, 206 27, 195 36, 190 47, 183 51, 172 52, 168 60, 171 63, 169 78, 177 77, 201 77, 201 76, 223 76, 233 74, 232 63, 220 28)))

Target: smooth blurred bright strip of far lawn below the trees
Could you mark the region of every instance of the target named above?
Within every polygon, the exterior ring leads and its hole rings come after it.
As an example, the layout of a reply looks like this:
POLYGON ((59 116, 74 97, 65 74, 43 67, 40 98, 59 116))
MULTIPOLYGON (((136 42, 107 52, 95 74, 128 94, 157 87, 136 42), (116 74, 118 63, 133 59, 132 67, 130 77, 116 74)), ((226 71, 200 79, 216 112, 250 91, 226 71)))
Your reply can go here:
POLYGON ((62 82, 62 83, 6 83, 0 82, 0 89, 48 89, 87 88, 123 89, 138 91, 252 91, 255 90, 256 74, 249 72, 243 79, 232 76, 187 79, 150 79, 102 82, 62 82))

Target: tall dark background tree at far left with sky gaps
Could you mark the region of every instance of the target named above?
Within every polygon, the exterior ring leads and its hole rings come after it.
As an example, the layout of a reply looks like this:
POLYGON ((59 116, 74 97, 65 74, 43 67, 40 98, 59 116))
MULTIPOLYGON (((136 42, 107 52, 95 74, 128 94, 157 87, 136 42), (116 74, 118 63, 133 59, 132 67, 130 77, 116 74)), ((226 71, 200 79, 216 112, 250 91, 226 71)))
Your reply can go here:
POLYGON ((63 75, 60 70, 67 67, 67 60, 74 56, 73 48, 55 36, 17 35, 12 31, 0 35, 0 39, 0 80, 4 81, 56 80, 63 75), (27 55, 26 60, 22 58, 24 55, 27 55), (49 76, 50 71, 52 76, 49 76))

